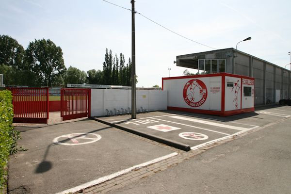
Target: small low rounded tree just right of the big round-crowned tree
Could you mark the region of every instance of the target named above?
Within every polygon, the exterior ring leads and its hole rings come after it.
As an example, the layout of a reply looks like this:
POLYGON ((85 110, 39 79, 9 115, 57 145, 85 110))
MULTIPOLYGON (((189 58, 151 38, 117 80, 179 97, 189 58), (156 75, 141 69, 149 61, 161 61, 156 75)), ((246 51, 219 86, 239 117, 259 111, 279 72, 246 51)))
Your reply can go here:
POLYGON ((87 75, 85 71, 81 71, 76 67, 70 66, 64 76, 65 85, 67 83, 86 83, 87 75))

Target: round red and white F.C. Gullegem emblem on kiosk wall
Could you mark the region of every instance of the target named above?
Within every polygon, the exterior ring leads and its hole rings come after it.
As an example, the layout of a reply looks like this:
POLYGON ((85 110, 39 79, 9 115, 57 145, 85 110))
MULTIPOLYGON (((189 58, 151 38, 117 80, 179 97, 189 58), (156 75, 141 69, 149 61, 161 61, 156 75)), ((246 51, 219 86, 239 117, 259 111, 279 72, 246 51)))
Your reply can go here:
POLYGON ((183 89, 183 97, 189 106, 201 106, 207 98, 206 85, 203 81, 197 79, 188 81, 183 89))

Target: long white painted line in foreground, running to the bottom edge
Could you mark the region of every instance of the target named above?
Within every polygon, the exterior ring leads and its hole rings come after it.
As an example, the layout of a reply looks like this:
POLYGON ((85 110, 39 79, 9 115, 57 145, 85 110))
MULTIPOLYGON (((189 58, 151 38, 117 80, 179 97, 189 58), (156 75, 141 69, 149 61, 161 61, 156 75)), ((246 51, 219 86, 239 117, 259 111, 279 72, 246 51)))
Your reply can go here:
POLYGON ((118 177, 118 176, 120 176, 120 175, 123 175, 123 174, 129 173, 130 171, 132 171, 132 170, 134 170, 134 169, 136 169, 136 168, 141 168, 141 167, 144 167, 144 166, 148 166, 148 165, 150 165, 150 164, 157 163, 157 162, 160 162, 160 161, 162 161, 162 160, 166 160, 166 159, 171 158, 171 157, 176 156, 176 155, 178 155, 178 153, 177 153, 177 152, 173 152, 173 153, 171 153, 171 154, 168 154, 168 155, 162 156, 162 157, 160 157, 160 158, 156 158, 156 159, 154 159, 154 160, 151 160, 151 161, 148 161, 148 162, 144 162, 144 163, 141 163, 141 164, 138 164, 138 165, 132 166, 132 167, 130 167, 130 168, 127 168, 127 169, 124 169, 124 170, 118 171, 118 172, 113 173, 113 174, 111 174, 111 175, 107 175, 107 176, 105 176, 105 177, 97 178, 97 179, 95 179, 95 180, 92 180, 92 181, 90 181, 90 182, 87 182, 87 183, 81 184, 81 185, 79 185, 79 186, 77 186, 77 187, 73 187, 73 188, 71 188, 71 189, 67 189, 67 190, 62 191, 62 192, 59 192, 59 193, 57 193, 57 194, 68 194, 68 193, 70 193, 70 192, 71 192, 71 193, 75 193, 75 192, 80 191, 80 190, 82 190, 82 189, 86 189, 86 188, 88 188, 88 187, 91 187, 91 186, 94 186, 94 185, 100 184, 101 182, 105 182, 105 181, 110 180, 110 179, 112 179, 112 178, 115 178, 115 177, 118 177))

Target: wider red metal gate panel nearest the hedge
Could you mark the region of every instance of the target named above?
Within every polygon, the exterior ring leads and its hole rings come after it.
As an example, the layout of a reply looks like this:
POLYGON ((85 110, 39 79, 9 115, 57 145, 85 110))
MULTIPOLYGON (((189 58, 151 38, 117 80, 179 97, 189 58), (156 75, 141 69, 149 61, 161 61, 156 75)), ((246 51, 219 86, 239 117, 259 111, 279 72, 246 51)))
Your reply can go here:
POLYGON ((14 123, 48 123, 49 88, 8 88, 13 96, 14 123))

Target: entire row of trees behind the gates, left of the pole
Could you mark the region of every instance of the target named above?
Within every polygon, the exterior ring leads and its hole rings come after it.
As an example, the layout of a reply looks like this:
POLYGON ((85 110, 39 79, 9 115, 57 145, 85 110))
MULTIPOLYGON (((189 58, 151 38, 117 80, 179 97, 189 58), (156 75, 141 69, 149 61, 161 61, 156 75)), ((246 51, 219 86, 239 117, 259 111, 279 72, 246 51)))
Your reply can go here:
POLYGON ((131 86, 131 62, 106 49, 103 70, 65 67, 63 51, 51 40, 34 40, 24 49, 16 39, 0 35, 0 74, 5 85, 66 86, 67 83, 131 86))

